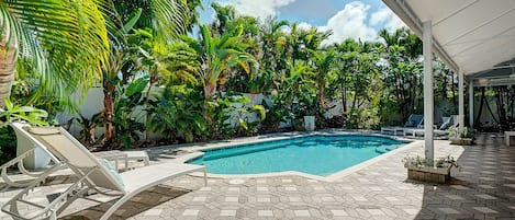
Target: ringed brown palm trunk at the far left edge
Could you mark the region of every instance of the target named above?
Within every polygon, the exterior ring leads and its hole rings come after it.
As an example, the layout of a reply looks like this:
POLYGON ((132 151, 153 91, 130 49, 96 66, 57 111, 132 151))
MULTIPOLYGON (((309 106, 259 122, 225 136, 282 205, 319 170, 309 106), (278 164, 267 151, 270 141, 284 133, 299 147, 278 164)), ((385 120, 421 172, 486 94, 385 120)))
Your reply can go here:
POLYGON ((11 95, 12 81, 16 70, 18 47, 14 39, 8 40, 8 33, 3 31, 0 40, 0 107, 5 104, 3 100, 11 95), (8 45, 9 43, 9 45, 8 45))

